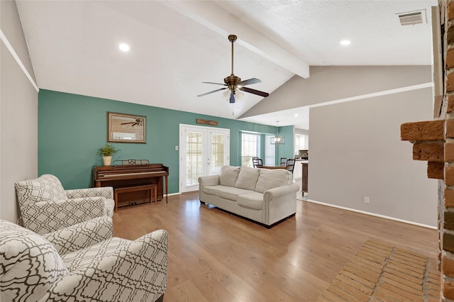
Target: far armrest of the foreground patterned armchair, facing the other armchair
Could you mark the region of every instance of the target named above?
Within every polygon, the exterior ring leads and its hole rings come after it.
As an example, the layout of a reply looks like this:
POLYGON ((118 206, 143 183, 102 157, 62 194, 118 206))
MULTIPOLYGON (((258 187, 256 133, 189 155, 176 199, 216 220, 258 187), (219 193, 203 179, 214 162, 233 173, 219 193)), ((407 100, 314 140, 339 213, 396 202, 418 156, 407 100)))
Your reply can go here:
POLYGON ((77 223, 61 230, 42 235, 55 247, 60 255, 82 250, 110 239, 113 235, 114 223, 110 217, 98 217, 77 223))

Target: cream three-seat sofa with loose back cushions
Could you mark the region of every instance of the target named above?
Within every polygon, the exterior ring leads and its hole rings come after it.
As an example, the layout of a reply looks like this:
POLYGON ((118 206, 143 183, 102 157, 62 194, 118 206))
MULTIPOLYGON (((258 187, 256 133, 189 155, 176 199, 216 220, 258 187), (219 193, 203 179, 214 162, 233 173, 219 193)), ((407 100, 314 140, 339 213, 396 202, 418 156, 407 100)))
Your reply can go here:
POLYGON ((294 216, 297 191, 285 169, 224 166, 219 175, 199 177, 199 199, 267 228, 294 216))

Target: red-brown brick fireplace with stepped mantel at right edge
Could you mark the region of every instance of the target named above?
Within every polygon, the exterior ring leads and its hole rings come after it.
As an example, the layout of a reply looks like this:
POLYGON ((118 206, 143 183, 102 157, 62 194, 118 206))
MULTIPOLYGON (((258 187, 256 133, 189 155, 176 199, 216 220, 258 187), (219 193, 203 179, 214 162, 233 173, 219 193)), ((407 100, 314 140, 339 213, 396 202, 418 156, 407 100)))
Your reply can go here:
POLYGON ((437 91, 438 83, 435 83, 435 118, 434 121, 403 124, 401 136, 402 140, 414 143, 414 160, 428 161, 428 177, 440 179, 438 268, 441 269, 441 301, 454 301, 454 0, 440 0, 438 4, 441 21, 435 26, 442 28, 444 23, 445 30, 441 32, 440 82, 443 85, 437 91))

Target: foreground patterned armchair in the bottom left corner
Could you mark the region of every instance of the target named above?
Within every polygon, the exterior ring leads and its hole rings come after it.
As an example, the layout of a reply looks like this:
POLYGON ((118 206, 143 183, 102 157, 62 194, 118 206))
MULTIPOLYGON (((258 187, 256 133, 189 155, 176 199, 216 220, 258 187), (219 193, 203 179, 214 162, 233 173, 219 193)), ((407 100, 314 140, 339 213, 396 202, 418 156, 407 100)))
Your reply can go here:
POLYGON ((0 301, 162 301, 167 231, 133 241, 112 237, 79 250, 86 241, 78 233, 109 237, 111 221, 95 218, 72 231, 38 235, 0 220, 0 301))

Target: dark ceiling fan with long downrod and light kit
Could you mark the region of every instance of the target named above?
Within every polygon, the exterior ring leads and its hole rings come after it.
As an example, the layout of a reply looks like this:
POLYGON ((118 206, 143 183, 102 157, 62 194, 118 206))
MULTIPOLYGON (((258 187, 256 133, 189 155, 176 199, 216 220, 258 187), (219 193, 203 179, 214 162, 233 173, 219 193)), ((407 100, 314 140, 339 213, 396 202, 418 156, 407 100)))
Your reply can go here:
POLYGON ((224 79, 225 84, 214 83, 214 82, 202 82, 202 83, 206 83, 206 84, 222 85, 222 86, 226 86, 226 87, 216 89, 213 91, 209 91, 204 94, 199 94, 198 96, 206 96, 207 94, 213 94, 214 92, 217 92, 217 91, 221 91, 224 89, 230 89, 230 91, 231 91, 230 103, 233 104, 233 103, 235 103, 235 91, 236 90, 249 92, 250 94, 257 94, 258 96, 263 96, 263 97, 267 97, 270 95, 267 92, 258 91, 255 89, 245 87, 245 85, 261 83, 262 81, 260 81, 260 79, 252 78, 252 79, 246 79, 244 81, 241 81, 241 79, 239 77, 236 77, 236 75, 233 74, 233 43, 235 43, 236 38, 237 38, 236 35, 228 36, 228 40, 232 43, 232 74, 224 79))

